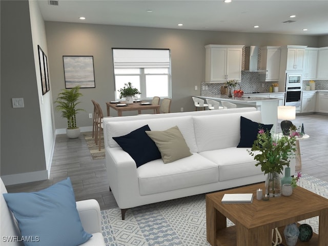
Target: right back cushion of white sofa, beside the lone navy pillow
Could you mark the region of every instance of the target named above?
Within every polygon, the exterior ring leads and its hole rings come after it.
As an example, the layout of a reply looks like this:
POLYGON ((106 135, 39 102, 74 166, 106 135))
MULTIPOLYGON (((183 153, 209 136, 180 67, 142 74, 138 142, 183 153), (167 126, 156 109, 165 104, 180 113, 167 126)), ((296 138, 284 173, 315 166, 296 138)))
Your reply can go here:
POLYGON ((261 122, 261 112, 194 116, 198 153, 236 147, 240 141, 240 115, 261 122))

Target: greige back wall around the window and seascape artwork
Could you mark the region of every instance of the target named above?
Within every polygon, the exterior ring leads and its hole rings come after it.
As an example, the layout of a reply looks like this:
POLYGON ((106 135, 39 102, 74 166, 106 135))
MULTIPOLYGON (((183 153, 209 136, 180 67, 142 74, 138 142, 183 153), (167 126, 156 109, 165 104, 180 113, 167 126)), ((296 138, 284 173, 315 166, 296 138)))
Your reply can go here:
MULTIPOLYGON (((50 76, 53 98, 65 88, 63 55, 93 55, 94 89, 81 89, 84 94, 78 125, 91 126, 88 113, 93 112, 91 99, 102 106, 106 114, 106 101, 114 100, 114 74, 111 48, 168 48, 172 61, 172 112, 194 110, 191 95, 200 95, 205 74, 204 45, 256 45, 318 46, 318 37, 304 35, 254 34, 177 29, 141 28, 110 25, 46 22, 50 76), (198 86, 198 91, 194 87, 198 86)), ((113 112, 113 111, 111 111, 113 112)), ((117 115, 116 112, 111 113, 117 115)), ((124 113, 128 115, 129 113, 124 113)), ((136 114, 136 112, 130 113, 136 114)), ((55 112, 56 129, 66 128, 66 121, 55 112)))

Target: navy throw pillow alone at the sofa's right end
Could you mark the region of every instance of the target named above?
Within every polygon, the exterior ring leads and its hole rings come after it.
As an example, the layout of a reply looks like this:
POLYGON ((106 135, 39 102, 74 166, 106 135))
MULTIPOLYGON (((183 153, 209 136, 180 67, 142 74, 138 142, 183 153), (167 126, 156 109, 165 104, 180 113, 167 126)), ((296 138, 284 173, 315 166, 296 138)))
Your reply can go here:
POLYGON ((260 129, 270 131, 273 125, 264 125, 240 116, 240 141, 237 148, 252 148, 260 129))

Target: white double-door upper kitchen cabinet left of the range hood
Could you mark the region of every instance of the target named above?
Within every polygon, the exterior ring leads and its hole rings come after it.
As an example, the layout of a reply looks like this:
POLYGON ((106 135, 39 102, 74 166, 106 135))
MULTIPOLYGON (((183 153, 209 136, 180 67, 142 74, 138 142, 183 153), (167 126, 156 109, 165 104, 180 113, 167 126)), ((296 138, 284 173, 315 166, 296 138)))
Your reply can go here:
POLYGON ((205 81, 219 83, 241 79, 243 45, 207 45, 205 58, 205 81))

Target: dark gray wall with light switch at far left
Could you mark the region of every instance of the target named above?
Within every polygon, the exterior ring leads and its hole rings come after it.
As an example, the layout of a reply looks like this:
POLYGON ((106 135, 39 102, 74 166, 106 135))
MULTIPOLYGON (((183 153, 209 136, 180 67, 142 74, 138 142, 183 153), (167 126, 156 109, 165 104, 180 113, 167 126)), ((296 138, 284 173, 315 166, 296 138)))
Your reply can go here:
POLYGON ((27 1, 1 1, 1 115, 1 175, 46 170, 27 1))

